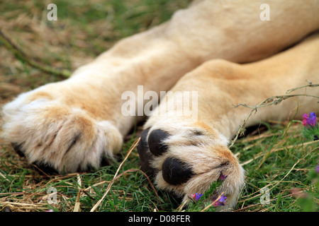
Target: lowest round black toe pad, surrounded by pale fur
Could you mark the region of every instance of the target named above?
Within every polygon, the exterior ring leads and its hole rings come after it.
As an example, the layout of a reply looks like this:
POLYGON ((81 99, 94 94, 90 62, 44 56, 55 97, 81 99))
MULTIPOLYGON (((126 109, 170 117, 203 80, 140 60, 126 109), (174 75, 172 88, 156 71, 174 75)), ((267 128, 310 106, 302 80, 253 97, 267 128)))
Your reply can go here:
POLYGON ((178 185, 187 182, 193 176, 193 172, 185 163, 169 157, 163 162, 162 176, 165 182, 178 185))

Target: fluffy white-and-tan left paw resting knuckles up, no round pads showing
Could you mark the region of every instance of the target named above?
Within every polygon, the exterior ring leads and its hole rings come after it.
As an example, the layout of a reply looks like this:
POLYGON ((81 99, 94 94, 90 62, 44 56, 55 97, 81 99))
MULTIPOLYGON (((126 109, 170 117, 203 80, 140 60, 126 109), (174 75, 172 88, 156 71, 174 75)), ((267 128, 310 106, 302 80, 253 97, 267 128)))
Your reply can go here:
POLYGON ((4 106, 4 140, 45 170, 84 172, 108 164, 122 144, 116 126, 41 93, 21 94, 4 106))

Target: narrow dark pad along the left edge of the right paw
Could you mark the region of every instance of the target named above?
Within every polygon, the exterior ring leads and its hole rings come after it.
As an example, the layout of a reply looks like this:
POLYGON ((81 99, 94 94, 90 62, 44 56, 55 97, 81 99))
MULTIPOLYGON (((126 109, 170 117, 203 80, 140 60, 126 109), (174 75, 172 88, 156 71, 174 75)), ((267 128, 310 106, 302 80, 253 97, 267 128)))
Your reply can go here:
POLYGON ((155 169, 150 167, 150 161, 152 160, 152 154, 148 151, 147 133, 150 129, 145 129, 140 133, 140 143, 138 143, 138 155, 140 155, 140 167, 143 172, 148 175, 154 174, 155 169))

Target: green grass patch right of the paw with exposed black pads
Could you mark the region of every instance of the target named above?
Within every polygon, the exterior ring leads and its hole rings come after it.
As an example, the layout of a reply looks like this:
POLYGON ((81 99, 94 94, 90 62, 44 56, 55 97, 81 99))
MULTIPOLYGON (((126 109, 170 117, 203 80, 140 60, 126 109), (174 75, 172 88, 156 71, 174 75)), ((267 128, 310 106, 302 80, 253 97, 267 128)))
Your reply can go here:
MULTIPOLYGON (((256 210, 303 211, 293 191, 301 189, 312 199, 313 210, 318 210, 318 184, 313 171, 318 164, 318 141, 309 141, 301 136, 301 123, 274 125, 267 133, 251 142, 240 141, 233 147, 239 153, 246 174, 246 188, 238 208, 252 206, 256 210), (269 134, 269 136, 267 136, 269 134), (264 138, 263 138, 264 137, 264 138), (250 160, 252 160, 250 162, 250 160), (261 205, 260 189, 269 188, 270 203, 261 205)), ((257 136, 258 137, 258 136, 257 136)), ((244 139, 248 140, 248 139, 244 139)))

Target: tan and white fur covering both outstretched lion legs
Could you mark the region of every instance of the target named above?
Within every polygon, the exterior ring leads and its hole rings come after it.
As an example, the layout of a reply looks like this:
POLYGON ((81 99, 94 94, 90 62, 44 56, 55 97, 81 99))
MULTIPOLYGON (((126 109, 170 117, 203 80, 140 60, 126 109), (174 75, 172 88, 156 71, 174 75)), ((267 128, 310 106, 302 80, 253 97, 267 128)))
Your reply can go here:
MULTIPOLYGON (((123 92, 137 94, 138 85, 144 85, 144 92, 198 91, 198 121, 159 114, 145 124, 145 129, 172 135, 165 141, 169 151, 152 162, 159 170, 156 183, 186 200, 208 189, 219 177, 220 162, 228 162, 221 166, 228 177, 219 192, 228 196, 225 207, 232 207, 245 176, 227 146, 250 110, 233 105, 257 105, 306 80, 319 83, 318 35, 272 57, 317 30, 318 11, 318 1, 312 0, 196 1, 167 23, 119 41, 66 81, 23 93, 5 105, 2 136, 21 144, 30 162, 67 172, 99 167, 101 155, 112 157, 121 149, 136 119, 121 114, 123 92), (270 6, 269 21, 259 20, 262 3, 270 6), (203 136, 191 136, 191 129, 203 136), (168 184, 160 174, 167 157, 189 163, 196 176, 179 186, 168 184)), ((318 89, 305 92, 318 95, 318 89)), ((296 102, 298 117, 318 111, 315 100, 297 97, 260 109, 249 125, 286 119, 296 102)))

